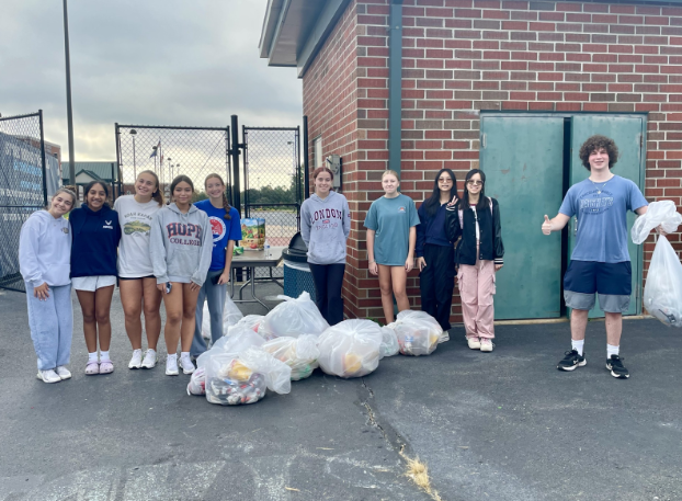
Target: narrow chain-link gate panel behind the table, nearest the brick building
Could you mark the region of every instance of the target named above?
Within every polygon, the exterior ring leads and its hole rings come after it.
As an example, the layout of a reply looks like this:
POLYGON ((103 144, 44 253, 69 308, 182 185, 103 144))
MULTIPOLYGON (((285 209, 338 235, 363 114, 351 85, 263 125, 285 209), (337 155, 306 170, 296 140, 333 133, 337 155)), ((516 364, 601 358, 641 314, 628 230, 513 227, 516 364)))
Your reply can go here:
MULTIPOLYGON (((299 127, 242 127, 243 216, 265 219, 270 246, 288 246, 300 229, 303 172, 299 161, 299 127)), ((257 267, 255 276, 270 276, 257 267)), ((282 277, 282 266, 272 270, 282 277)))

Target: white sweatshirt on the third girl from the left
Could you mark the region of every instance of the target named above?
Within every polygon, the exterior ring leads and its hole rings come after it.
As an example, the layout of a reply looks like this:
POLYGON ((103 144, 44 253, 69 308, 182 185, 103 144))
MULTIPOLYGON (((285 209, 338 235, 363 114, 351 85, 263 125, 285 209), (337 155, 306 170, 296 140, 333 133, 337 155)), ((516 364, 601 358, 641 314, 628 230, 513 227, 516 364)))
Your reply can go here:
POLYGON ((140 278, 154 275, 149 252, 149 231, 154 215, 160 209, 155 200, 140 204, 134 195, 116 198, 114 209, 118 213, 121 243, 118 243, 118 276, 140 278))

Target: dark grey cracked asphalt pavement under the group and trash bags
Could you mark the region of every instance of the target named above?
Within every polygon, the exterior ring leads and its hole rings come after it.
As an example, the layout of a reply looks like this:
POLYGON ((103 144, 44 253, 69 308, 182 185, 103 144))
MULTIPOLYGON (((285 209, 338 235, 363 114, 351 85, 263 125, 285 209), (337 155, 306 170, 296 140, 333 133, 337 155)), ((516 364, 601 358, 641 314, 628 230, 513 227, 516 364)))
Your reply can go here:
POLYGON ((117 289, 115 371, 86 376, 76 296, 73 312, 73 378, 46 385, 25 296, 0 291, 0 501, 432 499, 400 451, 443 500, 682 499, 682 330, 657 320, 625 322, 628 380, 604 368, 603 322, 573 373, 556 369, 567 323, 499 326, 492 353, 468 350, 458 326, 430 356, 351 380, 318 369, 289 395, 220 407, 187 396, 189 376, 166 376, 162 356, 127 368, 117 289))

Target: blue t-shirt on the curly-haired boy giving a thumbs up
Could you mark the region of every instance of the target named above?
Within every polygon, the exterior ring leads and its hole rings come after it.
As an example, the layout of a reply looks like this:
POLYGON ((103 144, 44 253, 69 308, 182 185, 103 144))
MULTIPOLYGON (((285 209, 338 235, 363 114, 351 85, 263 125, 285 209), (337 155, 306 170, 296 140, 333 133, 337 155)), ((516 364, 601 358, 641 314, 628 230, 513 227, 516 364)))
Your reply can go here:
POLYGON ((578 218, 571 259, 600 263, 629 261, 627 212, 645 205, 649 204, 637 185, 620 175, 606 183, 586 179, 573 184, 559 208, 559 213, 578 218))

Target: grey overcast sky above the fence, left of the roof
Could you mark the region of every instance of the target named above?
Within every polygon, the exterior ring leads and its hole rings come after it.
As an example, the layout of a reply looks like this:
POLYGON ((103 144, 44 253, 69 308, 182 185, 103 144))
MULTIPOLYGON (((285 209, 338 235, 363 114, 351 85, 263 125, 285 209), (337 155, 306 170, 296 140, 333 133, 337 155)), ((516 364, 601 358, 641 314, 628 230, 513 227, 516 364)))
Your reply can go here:
MULTIPOLYGON (((296 126, 302 82, 258 44, 266 0, 69 0, 76 160, 115 160, 114 123, 296 126)), ((68 159, 60 0, 0 0, 0 113, 43 110, 68 159)))

